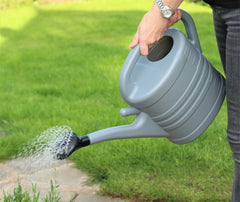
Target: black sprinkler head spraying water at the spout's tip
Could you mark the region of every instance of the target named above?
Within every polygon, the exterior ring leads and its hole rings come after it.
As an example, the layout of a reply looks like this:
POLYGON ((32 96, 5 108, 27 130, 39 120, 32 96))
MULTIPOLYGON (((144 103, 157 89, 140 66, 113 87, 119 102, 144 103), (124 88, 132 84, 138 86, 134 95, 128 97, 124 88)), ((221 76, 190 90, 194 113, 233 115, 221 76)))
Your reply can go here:
POLYGON ((90 144, 88 136, 79 138, 75 133, 68 133, 57 139, 53 146, 53 157, 63 160, 69 157, 74 151, 90 144))

